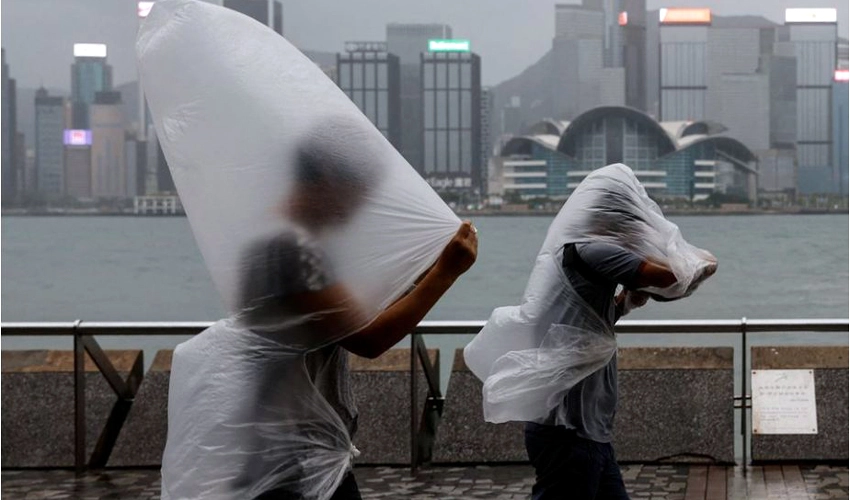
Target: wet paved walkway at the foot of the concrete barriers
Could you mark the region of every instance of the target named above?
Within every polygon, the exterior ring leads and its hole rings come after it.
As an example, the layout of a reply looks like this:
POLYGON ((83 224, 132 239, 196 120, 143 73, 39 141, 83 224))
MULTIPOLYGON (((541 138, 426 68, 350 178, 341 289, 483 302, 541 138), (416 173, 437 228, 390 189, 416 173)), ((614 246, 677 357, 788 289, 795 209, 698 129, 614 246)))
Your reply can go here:
MULTIPOLYGON (((429 467, 412 477, 393 467, 358 467, 364 499, 527 499, 534 482, 530 467, 493 465, 429 467)), ((847 467, 824 465, 740 468, 687 465, 625 465, 633 499, 828 499, 848 498, 847 467)), ((2 472, 4 500, 159 498, 159 471, 109 470, 75 477, 70 471, 2 472)))

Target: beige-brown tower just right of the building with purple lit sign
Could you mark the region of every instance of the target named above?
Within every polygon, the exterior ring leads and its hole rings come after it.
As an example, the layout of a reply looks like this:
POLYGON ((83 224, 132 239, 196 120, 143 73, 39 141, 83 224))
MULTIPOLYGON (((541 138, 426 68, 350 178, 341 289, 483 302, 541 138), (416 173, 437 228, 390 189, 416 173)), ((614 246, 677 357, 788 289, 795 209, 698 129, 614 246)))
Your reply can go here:
POLYGON ((92 197, 127 196, 124 109, 119 92, 98 92, 91 105, 92 197))

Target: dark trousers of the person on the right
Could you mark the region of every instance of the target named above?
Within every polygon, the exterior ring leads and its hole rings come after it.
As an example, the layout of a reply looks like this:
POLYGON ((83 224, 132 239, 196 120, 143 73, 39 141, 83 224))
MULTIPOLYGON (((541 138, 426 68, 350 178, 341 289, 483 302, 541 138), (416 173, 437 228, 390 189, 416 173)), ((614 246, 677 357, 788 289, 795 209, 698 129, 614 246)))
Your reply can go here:
POLYGON ((525 449, 537 482, 533 500, 628 500, 611 443, 582 439, 575 430, 525 424, 525 449))

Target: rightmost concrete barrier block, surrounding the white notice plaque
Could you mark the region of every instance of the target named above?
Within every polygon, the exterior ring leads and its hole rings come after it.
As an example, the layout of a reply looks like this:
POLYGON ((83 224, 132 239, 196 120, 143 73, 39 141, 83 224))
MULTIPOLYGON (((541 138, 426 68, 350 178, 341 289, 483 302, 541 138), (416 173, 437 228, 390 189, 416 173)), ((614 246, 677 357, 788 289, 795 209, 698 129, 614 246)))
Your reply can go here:
POLYGON ((754 434, 754 461, 848 459, 848 351, 835 347, 753 347, 753 370, 815 372, 818 433, 754 434))

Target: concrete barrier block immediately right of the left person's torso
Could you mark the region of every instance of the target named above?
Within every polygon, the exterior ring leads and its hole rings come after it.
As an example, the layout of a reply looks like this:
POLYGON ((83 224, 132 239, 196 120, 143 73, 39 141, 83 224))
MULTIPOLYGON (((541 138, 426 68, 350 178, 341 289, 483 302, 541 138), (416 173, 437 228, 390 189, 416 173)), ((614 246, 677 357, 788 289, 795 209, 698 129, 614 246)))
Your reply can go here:
MULTIPOLYGON (((440 372, 439 352, 428 357, 440 372)), ((392 349, 378 359, 351 356, 351 378, 358 418, 354 445, 358 464, 410 463, 410 350, 392 349)), ((417 418, 428 394, 422 371, 417 372, 417 418)))

